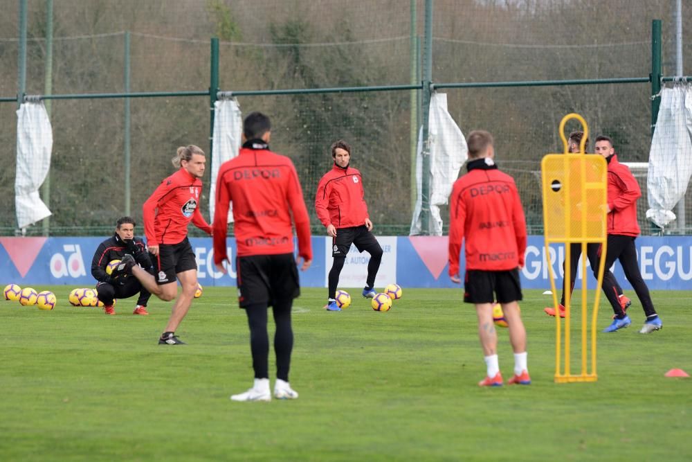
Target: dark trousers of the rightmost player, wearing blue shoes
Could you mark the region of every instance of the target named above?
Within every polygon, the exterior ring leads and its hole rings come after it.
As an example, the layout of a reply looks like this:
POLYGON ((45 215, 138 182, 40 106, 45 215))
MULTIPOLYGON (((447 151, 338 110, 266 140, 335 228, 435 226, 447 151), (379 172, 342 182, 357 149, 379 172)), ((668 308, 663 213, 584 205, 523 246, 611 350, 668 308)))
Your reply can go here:
MULTIPOLYGON (((625 277, 634 288, 637 298, 644 308, 646 317, 655 316, 656 310, 653 308, 653 302, 651 301, 648 287, 646 287, 644 279, 641 278, 641 272, 639 272, 635 237, 621 236, 619 234, 608 235, 608 252, 605 256, 605 267, 610 268, 612 264, 615 263, 615 260, 620 261, 620 265, 622 265, 622 269, 625 272, 625 277)), ((603 290, 608 290, 608 287, 605 287, 605 280, 603 281, 603 290)), ((624 316, 619 304, 613 307, 613 311, 617 317, 624 316)))

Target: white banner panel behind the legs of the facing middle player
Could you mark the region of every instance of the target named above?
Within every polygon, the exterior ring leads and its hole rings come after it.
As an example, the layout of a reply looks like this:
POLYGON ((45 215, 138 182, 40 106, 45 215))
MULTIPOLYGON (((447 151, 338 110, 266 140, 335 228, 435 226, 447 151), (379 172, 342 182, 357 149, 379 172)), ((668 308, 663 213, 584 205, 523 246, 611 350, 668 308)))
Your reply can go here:
MULTIPOLYGON (((385 287, 397 281, 397 238, 396 236, 377 236, 377 242, 382 247, 382 261, 375 277, 375 287, 385 287)), ((331 244, 331 238, 325 238, 325 287, 329 285, 329 270, 334 263, 334 257, 331 256, 331 244)), ((352 245, 346 254, 338 287, 364 287, 369 262, 370 254, 367 252, 361 254, 356 246, 352 245)))

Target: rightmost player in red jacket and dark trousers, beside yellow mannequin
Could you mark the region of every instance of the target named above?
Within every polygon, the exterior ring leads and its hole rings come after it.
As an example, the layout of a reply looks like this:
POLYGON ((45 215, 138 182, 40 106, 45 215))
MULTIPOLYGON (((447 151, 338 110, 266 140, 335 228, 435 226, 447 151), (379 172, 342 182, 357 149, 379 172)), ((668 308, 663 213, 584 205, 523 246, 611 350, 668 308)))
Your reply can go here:
MULTIPOLYGON (((637 223, 637 199, 641 197, 639 183, 630 169, 617 161, 612 140, 608 136, 597 137, 596 154, 601 154, 608 162, 608 217, 606 218, 608 249, 605 253, 605 267, 610 268, 615 260, 620 261, 625 277, 634 288, 646 314, 646 321, 639 333, 649 334, 663 328, 663 323, 653 308, 648 287, 641 278, 637 263, 635 239, 639 236, 637 223)), ((607 290, 605 281, 603 290, 607 290)), ((619 308, 618 305, 613 306, 615 317, 603 332, 615 332, 632 323, 630 317, 619 308)))

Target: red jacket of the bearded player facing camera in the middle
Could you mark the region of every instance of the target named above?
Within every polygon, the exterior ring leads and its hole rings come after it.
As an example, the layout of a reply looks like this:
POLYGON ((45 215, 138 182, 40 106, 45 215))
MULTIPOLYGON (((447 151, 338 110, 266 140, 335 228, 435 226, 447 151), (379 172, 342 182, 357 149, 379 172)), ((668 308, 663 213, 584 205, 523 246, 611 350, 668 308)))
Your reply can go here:
POLYGON ((315 210, 325 228, 329 224, 337 229, 365 224, 369 215, 361 172, 352 167, 341 168, 335 163, 317 185, 315 210))

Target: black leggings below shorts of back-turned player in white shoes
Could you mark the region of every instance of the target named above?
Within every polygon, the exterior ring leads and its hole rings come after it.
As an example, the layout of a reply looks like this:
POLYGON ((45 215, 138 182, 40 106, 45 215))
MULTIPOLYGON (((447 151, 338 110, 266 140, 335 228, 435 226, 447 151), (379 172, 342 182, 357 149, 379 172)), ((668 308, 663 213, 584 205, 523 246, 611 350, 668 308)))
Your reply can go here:
MULTIPOLYGON (((293 350, 293 328, 291 327, 291 307, 293 299, 274 301, 272 310, 276 332, 274 333, 274 353, 276 354, 276 378, 289 381, 291 351, 293 350)), ((245 307, 250 326, 250 350, 253 355, 255 378, 269 378, 269 335, 266 329, 267 304, 253 303, 245 307)))

